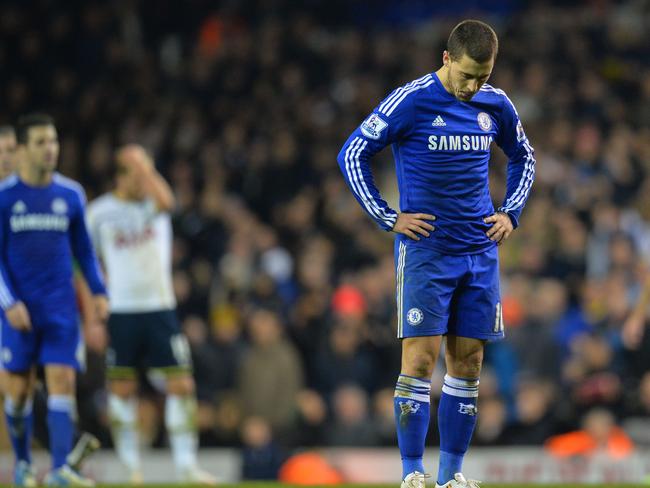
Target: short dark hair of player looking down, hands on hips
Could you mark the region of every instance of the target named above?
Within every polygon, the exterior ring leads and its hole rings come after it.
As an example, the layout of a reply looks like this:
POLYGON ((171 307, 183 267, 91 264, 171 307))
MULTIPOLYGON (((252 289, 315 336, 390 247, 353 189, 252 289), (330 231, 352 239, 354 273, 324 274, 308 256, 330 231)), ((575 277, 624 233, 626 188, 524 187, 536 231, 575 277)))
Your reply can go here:
POLYGON ((494 29, 480 20, 463 20, 449 34, 447 52, 458 60, 467 54, 477 63, 496 58, 499 40, 494 29))

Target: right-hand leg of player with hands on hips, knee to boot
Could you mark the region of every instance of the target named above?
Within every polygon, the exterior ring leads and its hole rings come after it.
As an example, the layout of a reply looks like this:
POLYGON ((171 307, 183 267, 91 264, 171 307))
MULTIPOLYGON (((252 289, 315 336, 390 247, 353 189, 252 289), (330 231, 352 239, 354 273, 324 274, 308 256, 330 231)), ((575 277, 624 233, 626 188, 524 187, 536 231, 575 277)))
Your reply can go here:
POLYGON ((461 473, 465 452, 476 425, 476 401, 485 341, 447 336, 445 375, 438 406, 440 467, 436 487, 475 488, 478 482, 461 473))

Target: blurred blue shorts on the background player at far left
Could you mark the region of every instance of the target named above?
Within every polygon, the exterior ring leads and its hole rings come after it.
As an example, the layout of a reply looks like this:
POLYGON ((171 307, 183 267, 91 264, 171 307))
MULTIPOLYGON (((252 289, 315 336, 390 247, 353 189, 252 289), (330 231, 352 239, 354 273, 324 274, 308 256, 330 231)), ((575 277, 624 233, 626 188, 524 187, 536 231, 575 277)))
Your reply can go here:
POLYGON ((84 346, 78 319, 53 323, 32 315, 31 321, 32 329, 21 332, 2 317, 0 361, 4 369, 20 373, 37 364, 60 364, 81 369, 84 346))

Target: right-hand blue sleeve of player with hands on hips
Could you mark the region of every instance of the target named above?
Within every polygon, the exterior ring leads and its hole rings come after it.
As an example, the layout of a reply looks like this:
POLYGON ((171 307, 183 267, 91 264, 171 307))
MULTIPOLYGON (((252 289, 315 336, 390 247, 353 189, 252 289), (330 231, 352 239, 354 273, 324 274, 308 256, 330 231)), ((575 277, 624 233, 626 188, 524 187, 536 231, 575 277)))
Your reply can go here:
POLYGON ((507 96, 504 95, 503 98, 496 142, 509 161, 506 197, 498 211, 508 214, 512 225, 517 228, 519 216, 535 179, 535 151, 526 137, 514 105, 507 96))

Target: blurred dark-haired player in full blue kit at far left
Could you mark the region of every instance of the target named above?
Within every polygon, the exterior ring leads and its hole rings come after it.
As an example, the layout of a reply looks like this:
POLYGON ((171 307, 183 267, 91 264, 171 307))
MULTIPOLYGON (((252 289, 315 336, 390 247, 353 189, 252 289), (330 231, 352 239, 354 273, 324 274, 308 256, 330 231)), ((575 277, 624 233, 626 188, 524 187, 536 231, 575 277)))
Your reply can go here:
POLYGON ((81 186, 55 171, 59 141, 44 114, 17 124, 18 171, 0 183, 0 306, 6 370, 5 416, 17 486, 36 486, 31 469, 34 368, 43 365, 52 471, 48 486, 94 486, 67 463, 73 439, 79 313, 73 286, 76 259, 93 293, 98 317, 108 300, 85 224, 81 186))

